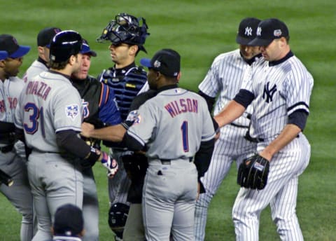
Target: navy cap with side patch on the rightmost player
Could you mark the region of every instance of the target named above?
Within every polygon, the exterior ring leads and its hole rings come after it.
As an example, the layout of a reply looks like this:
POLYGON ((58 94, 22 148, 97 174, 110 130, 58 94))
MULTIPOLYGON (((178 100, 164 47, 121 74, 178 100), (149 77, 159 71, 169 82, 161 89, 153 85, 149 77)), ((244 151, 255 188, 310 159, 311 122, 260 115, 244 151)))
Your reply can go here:
POLYGON ((256 37, 248 45, 268 46, 274 39, 289 37, 288 27, 276 18, 269 18, 259 23, 256 37))

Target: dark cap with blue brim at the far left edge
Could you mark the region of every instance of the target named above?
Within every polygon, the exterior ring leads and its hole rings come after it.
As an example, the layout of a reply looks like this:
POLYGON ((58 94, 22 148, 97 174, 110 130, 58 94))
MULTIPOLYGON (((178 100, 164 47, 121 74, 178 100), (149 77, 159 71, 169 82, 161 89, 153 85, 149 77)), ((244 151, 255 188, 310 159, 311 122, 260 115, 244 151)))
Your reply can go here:
POLYGON ((1 34, 0 35, 0 51, 4 50, 7 52, 8 57, 15 59, 17 57, 22 57, 26 55, 30 47, 29 46, 20 46, 18 41, 14 36, 10 34, 1 34))

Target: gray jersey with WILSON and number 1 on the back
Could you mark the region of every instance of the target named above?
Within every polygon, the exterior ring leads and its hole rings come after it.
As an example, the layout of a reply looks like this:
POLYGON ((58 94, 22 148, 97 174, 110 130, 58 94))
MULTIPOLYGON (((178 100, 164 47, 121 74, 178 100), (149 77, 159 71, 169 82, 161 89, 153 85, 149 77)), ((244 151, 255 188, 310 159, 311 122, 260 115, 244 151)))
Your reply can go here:
POLYGON ((207 103, 200 95, 182 88, 164 90, 139 108, 128 134, 146 144, 149 158, 193 157, 215 136, 207 103))

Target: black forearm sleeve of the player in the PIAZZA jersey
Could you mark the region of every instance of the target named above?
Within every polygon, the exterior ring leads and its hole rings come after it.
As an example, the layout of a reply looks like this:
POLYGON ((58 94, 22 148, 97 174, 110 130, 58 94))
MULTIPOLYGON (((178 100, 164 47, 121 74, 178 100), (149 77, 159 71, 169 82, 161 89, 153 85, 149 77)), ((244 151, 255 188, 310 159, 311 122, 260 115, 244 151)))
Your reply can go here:
POLYGON ((83 139, 80 139, 77 133, 73 130, 64 130, 56 133, 57 145, 64 149, 64 151, 77 156, 78 158, 85 158, 90 153, 91 148, 83 139))

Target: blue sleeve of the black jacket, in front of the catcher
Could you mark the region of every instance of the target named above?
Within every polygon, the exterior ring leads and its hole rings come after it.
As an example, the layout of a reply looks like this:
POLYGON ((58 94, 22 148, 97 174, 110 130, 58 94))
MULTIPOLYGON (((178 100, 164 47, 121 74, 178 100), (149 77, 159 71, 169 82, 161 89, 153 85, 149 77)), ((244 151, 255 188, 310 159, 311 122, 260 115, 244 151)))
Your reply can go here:
POLYGON ((105 84, 102 84, 99 119, 109 125, 117 125, 122 121, 113 89, 105 84))

